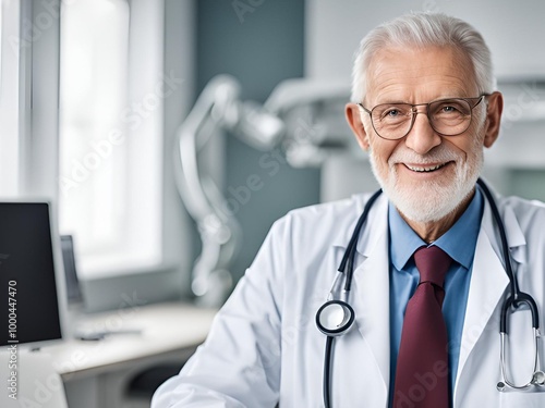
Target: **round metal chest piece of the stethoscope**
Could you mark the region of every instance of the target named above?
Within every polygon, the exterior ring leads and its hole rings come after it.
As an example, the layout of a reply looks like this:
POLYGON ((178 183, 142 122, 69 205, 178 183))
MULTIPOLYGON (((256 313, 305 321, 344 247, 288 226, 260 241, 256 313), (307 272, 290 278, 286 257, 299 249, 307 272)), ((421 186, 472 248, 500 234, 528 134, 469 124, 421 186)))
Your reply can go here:
POLYGON ((354 309, 342 300, 326 301, 316 312, 316 325, 327 336, 340 336, 354 323, 354 309))

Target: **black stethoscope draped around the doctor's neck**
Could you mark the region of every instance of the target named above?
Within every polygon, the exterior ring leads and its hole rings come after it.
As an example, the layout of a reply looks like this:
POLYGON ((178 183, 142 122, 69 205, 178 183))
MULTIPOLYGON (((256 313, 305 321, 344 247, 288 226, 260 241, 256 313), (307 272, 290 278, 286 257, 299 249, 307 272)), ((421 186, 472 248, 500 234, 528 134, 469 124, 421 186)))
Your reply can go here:
MULTIPOLYGON (((510 295, 504 300, 500 311, 499 321, 499 334, 500 334, 500 367, 501 367, 501 380, 497 383, 496 387, 498 391, 502 392, 507 388, 512 390, 524 390, 530 386, 543 386, 545 385, 545 373, 540 369, 540 351, 538 351, 538 338, 540 338, 540 319, 537 312, 537 306, 535 300, 529 294, 521 292, 519 289, 519 284, 517 277, 514 276, 512 265, 511 265, 511 255, 509 251, 509 246, 507 243, 507 234, 501 217, 499 215, 498 207, 496 201, 486 186, 486 184, 479 178, 477 184, 484 193, 486 199, 488 200, 492 209, 492 214, 496 222, 499 231, 499 237, 501 240, 501 251, 504 255, 504 263, 506 268, 507 276, 509 277, 509 293, 510 295), (508 312, 512 313, 514 309, 520 308, 522 305, 528 306, 530 312, 532 313, 532 329, 534 335, 534 368, 532 376, 529 382, 522 385, 517 385, 514 382, 508 380, 506 360, 507 360, 507 343, 508 343, 508 312)), ((363 213, 360 215, 358 223, 352 233, 352 237, 347 246, 347 250, 342 257, 341 263, 337 270, 335 281, 331 285, 331 290, 327 301, 322 305, 322 307, 316 312, 316 325, 319 331, 324 333, 326 338, 326 350, 324 358, 324 404, 326 408, 330 407, 330 388, 331 388, 331 357, 332 357, 332 345, 335 337, 338 337, 347 333, 355 320, 354 309, 349 304, 349 294, 352 286, 352 276, 354 273, 354 258, 355 248, 358 245, 358 239, 360 233, 367 220, 367 215, 376 201, 378 196, 383 193, 382 189, 376 191, 365 203, 363 213), (344 277, 344 287, 341 289, 342 281, 344 277), (335 294, 340 294, 339 298, 335 298, 335 294)))

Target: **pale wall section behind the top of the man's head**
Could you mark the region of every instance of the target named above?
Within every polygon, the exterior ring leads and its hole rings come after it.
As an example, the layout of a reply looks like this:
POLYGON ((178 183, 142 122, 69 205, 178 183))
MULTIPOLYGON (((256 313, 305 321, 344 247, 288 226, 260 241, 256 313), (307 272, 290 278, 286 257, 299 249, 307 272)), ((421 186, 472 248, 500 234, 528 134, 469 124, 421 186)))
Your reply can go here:
POLYGON ((455 15, 477 28, 493 53, 498 79, 545 79, 545 1, 307 0, 306 76, 350 78, 360 40, 378 24, 410 11, 455 15))

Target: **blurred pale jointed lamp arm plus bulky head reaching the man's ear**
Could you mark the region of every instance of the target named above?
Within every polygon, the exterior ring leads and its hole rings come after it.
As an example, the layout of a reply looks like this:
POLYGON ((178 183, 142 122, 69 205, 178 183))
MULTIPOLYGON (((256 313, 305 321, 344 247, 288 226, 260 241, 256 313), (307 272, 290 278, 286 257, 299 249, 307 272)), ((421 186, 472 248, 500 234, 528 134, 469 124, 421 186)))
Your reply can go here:
POLYGON ((264 106, 240 100, 240 85, 228 75, 213 78, 178 129, 177 186, 197 224, 202 251, 193 265, 192 292, 205 305, 220 305, 232 287, 229 267, 241 243, 239 223, 226 211, 221 189, 199 153, 229 131, 246 144, 270 150, 281 146, 293 166, 318 165, 327 151, 350 140, 338 135, 347 87, 290 79, 278 85, 264 106), (336 131, 332 131, 336 129, 336 131), (337 133, 336 133, 337 132, 337 133))

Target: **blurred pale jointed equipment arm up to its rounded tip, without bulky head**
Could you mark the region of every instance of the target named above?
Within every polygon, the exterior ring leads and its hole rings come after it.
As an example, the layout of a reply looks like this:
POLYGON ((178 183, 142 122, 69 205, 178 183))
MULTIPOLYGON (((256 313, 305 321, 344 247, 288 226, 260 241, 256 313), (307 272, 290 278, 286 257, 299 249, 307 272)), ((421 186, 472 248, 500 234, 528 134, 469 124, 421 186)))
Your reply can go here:
POLYGON ((177 187, 203 244, 193 267, 191 288, 202 304, 209 306, 221 305, 232 288, 229 265, 239 250, 241 231, 233 213, 226 210, 221 188, 199 165, 198 153, 218 128, 233 132, 252 146, 269 149, 283 127, 262 107, 241 102, 239 95, 234 78, 215 77, 179 127, 174 149, 177 187))

